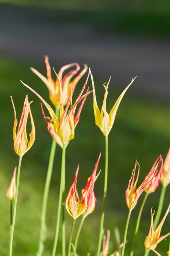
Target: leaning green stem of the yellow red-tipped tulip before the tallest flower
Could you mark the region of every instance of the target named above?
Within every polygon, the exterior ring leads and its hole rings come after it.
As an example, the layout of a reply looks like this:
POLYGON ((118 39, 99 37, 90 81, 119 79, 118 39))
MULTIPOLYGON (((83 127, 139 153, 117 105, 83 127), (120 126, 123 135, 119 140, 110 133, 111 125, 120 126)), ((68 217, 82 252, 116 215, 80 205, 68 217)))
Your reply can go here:
POLYGON ((56 230, 55 230, 55 238, 54 238, 52 256, 55 256, 55 252, 56 252, 56 249, 57 249, 58 234, 59 234, 59 227, 60 227, 60 214, 61 214, 61 208, 62 208, 63 178, 64 178, 63 176, 64 176, 64 168, 65 168, 65 158, 66 158, 66 145, 63 144, 61 179, 60 179, 60 193, 59 193, 59 200, 58 200, 57 223, 56 223, 56 230))

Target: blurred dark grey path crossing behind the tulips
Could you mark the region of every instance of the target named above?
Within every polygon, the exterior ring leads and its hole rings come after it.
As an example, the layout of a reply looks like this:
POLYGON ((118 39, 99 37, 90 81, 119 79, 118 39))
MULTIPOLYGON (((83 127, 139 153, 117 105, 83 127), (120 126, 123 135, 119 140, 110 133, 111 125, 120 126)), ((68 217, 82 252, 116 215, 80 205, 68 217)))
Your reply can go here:
POLYGON ((47 54, 57 66, 87 63, 95 77, 104 82, 111 74, 121 88, 137 76, 132 93, 170 102, 170 41, 161 38, 108 35, 57 24, 41 9, 0 5, 0 54, 39 62, 47 54))

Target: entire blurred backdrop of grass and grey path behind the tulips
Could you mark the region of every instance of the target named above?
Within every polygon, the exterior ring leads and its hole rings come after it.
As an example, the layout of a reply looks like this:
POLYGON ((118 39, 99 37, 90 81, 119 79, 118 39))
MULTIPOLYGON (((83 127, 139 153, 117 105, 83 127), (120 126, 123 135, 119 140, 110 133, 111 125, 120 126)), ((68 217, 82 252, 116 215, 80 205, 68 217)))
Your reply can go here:
MULTIPOLYGON (((87 63, 95 80, 97 102, 102 105, 104 88, 109 76, 108 112, 117 97, 135 76, 122 100, 115 124, 109 135, 109 183, 105 228, 111 231, 110 254, 115 249, 114 227, 119 227, 123 240, 128 208, 125 190, 137 159, 140 164, 139 184, 159 154, 166 157, 170 146, 170 2, 163 1, 47 1, 0 0, 0 255, 8 255, 9 202, 5 197, 18 157, 13 150, 13 96, 18 120, 24 97, 29 95, 36 126, 36 140, 23 158, 13 256, 35 255, 38 246, 40 213, 46 169, 51 148, 51 136, 46 131, 40 101, 20 83, 24 81, 46 101, 48 90, 31 70, 33 66, 46 75, 44 55, 51 67, 59 71, 63 65, 87 63)), ((55 75, 53 76, 55 78, 55 75)), ((78 83, 74 100, 84 81, 78 83)), ((88 85, 91 87, 91 80, 88 85)), ((50 103, 50 102, 49 102, 50 103)), ((71 186, 77 164, 80 164, 78 191, 91 175, 99 152, 102 169, 96 186, 97 205, 88 216, 81 233, 78 252, 94 255, 99 230, 104 182, 104 136, 95 126, 93 97, 90 95, 75 130, 75 138, 66 152, 66 191, 71 186), (81 242, 83 241, 83 242, 81 242), (86 242, 84 242, 86 241, 86 242), (83 243, 83 244, 82 244, 83 243)), ((51 255, 55 231, 57 198, 60 181, 61 149, 57 147, 53 179, 47 212, 48 235, 46 256, 51 255)), ((136 256, 144 254, 144 239, 150 227, 150 209, 157 209, 159 189, 150 195, 141 220, 136 256), (152 203, 151 203, 152 202, 152 203)), ((169 188, 164 203, 165 212, 170 197, 169 188)), ((144 195, 132 212, 128 232, 127 254, 134 234, 137 214, 144 195)), ((69 237, 71 218, 67 216, 69 237)), ((169 232, 170 217, 163 234, 169 232)), ((79 219, 77 220, 77 226, 79 219)), ((166 254, 168 239, 158 251, 166 254)), ((58 253, 61 246, 59 241, 58 253)), ((154 255, 150 253, 150 255, 154 255)))

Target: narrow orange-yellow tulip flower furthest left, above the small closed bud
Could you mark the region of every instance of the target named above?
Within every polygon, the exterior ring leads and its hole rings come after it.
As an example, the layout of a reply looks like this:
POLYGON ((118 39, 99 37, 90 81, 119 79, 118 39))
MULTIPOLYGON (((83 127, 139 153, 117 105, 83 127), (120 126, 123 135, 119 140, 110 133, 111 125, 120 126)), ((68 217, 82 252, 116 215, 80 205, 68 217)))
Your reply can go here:
POLYGON ((15 152, 20 157, 22 157, 31 148, 31 146, 33 145, 33 143, 35 141, 35 126, 34 126, 33 117, 32 117, 31 109, 30 109, 30 104, 32 103, 32 101, 29 103, 28 96, 26 95, 17 133, 16 133, 16 128, 17 128, 18 121, 17 121, 17 117, 16 117, 16 111, 15 111, 15 106, 13 103, 12 96, 11 96, 11 101, 13 104, 14 118, 15 118, 14 126, 13 126, 13 140, 14 140, 13 146, 14 146, 15 152), (30 119, 31 119, 31 133, 29 134, 30 141, 28 142, 27 133, 26 133, 26 124, 27 124, 29 115, 30 115, 30 119))

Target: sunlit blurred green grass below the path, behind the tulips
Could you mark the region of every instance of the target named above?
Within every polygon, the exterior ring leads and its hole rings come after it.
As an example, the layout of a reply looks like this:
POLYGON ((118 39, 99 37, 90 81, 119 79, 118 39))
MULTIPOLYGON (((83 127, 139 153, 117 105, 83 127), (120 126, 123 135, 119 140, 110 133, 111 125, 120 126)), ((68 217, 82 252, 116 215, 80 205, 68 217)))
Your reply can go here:
MULTIPOLYGON (((53 66, 53 63, 51 63, 53 66)), ((42 194, 48 157, 51 147, 51 136, 46 130, 44 120, 40 110, 40 100, 32 92, 24 88, 20 79, 39 92, 46 101, 48 91, 45 85, 30 70, 33 66, 45 74, 44 63, 19 62, 3 58, 0 60, 0 255, 8 255, 9 245, 9 202, 6 198, 6 191, 11 181, 13 169, 18 165, 18 156, 13 150, 13 108, 10 95, 13 96, 18 119, 22 112, 24 97, 29 96, 29 101, 33 100, 31 110, 35 121, 36 140, 28 153, 24 155, 21 169, 21 180, 18 198, 17 220, 15 226, 13 256, 32 256, 37 251, 40 213, 42 206, 42 194)), ((59 67, 55 67, 58 70, 59 67)), ((97 93, 97 102, 102 104, 104 81, 98 81, 96 77, 95 86, 97 93)), ((84 78, 85 80, 85 78, 84 78)), ((130 79, 129 79, 130 81, 130 79)), ((127 81, 127 83, 129 82, 127 81)), ((136 82, 136 81, 135 81, 136 82)), ((135 86, 135 82, 131 86, 135 86)), ((91 81, 88 84, 91 86, 91 81)), ((83 82, 77 85, 74 99, 78 94, 83 82)), ((125 85, 126 86, 126 85, 125 85)), ((115 100, 121 93, 114 88, 114 79, 109 85, 108 110, 113 106, 115 100)), ((106 204, 105 229, 111 231, 111 247, 115 249, 114 227, 118 226, 123 240, 124 227, 127 218, 128 208, 125 202, 125 190, 128 186, 128 180, 137 159, 140 166, 139 184, 144 179, 155 159, 161 153, 165 158, 170 146, 170 106, 168 103, 154 101, 153 99, 138 98, 130 94, 130 89, 122 100, 115 124, 109 135, 109 176, 108 176, 108 198, 106 204)), ((86 184, 86 179, 91 175, 94 164, 99 152, 102 152, 99 168, 102 172, 95 185, 95 195, 97 205, 95 212, 89 216, 82 230, 78 252, 80 255, 86 255, 87 250, 95 253, 97 247, 99 218, 102 206, 102 193, 104 182, 104 136, 99 128, 95 126, 93 115, 93 97, 88 97, 81 114, 80 122, 75 130, 75 138, 70 142, 66 150, 66 191, 71 186, 73 175, 77 164, 80 164, 77 189, 79 193, 86 184), (94 235, 95 234, 95 235, 94 235), (83 246, 82 246, 83 244, 83 246)), ((57 198, 60 182, 60 162, 61 149, 57 147, 53 178, 49 195, 49 204, 47 211, 48 235, 44 255, 50 256, 53 246, 53 237, 55 232, 55 217, 57 211, 57 198)), ((144 239, 148 234, 150 227, 150 209, 157 209, 161 187, 150 195, 146 203, 141 220, 141 229, 138 236, 138 248, 136 256, 144 254, 144 239)), ((164 204, 164 211, 168 207, 168 193, 164 204)), ((128 232, 127 255, 130 251, 132 236, 135 229, 137 214, 142 201, 139 199, 137 207, 132 212, 130 229, 128 232)), ((67 237, 70 234, 72 219, 66 214, 67 237)), ((76 221, 76 227, 79 224, 76 221)), ((162 234, 168 233, 170 226, 170 217, 162 229, 162 234)), ((60 237, 61 239, 61 237, 60 237)), ((167 239, 168 240, 168 239, 167 239)), ((58 252, 60 252, 61 240, 59 240, 58 252)), ((168 241, 159 245, 158 251, 163 255, 168 251, 168 241)), ((110 252, 111 253, 111 252, 110 252)), ((153 255, 150 253, 150 255, 153 255)))

